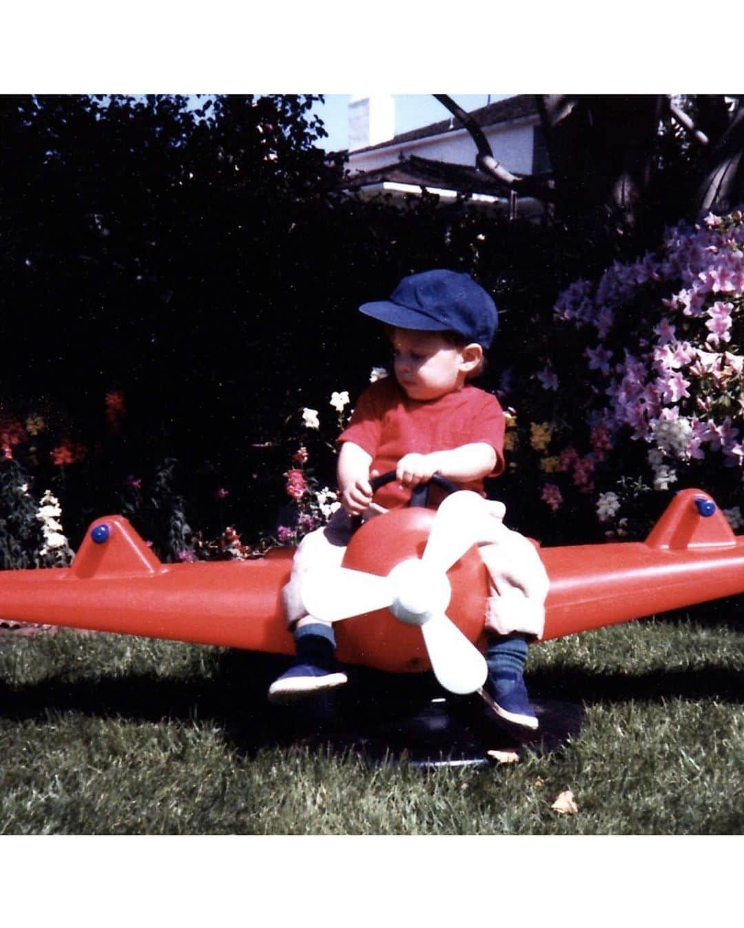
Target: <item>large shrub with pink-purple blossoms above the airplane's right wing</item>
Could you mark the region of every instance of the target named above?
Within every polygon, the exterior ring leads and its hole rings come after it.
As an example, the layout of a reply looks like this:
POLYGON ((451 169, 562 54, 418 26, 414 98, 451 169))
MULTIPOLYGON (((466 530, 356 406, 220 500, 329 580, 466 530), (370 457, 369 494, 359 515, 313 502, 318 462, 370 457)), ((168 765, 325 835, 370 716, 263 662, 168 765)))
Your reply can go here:
POLYGON ((680 224, 657 253, 575 281, 552 334, 565 348, 533 375, 533 402, 520 400, 548 410, 545 421, 507 431, 515 467, 540 472, 543 503, 554 513, 591 506, 608 535, 636 535, 658 513, 654 500, 699 485, 738 527, 744 215, 680 224))

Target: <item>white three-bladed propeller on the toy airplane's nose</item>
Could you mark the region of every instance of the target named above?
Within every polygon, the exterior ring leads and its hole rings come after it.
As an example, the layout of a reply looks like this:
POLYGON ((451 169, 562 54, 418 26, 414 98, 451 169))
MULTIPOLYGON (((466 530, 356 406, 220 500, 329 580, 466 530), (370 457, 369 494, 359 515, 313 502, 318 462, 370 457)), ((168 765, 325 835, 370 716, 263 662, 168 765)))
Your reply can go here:
POLYGON ((386 577, 346 567, 309 572, 301 589, 309 615, 338 622, 389 608, 406 625, 418 625, 434 676, 460 695, 480 690, 488 675, 485 659, 447 617, 452 589, 447 571, 480 541, 489 540, 494 520, 481 496, 461 490, 437 510, 423 556, 397 564, 386 577))

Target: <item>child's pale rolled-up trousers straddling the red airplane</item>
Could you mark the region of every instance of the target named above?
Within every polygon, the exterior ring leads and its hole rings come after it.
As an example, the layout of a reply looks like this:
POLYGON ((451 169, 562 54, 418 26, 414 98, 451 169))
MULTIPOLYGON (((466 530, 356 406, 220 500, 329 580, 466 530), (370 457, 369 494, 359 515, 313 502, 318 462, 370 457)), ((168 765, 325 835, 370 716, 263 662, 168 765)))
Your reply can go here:
MULTIPOLYGON (((489 576, 485 627, 495 635, 520 632, 542 638, 549 586, 543 561, 529 538, 504 524, 503 503, 484 499, 483 506, 494 517, 488 537, 479 541, 489 576)), ((369 517, 374 515, 370 513, 369 517)), ((350 517, 339 509, 324 528, 302 538, 292 561, 289 583, 282 590, 289 627, 307 614, 300 594, 303 575, 319 567, 340 567, 352 533, 350 517)))

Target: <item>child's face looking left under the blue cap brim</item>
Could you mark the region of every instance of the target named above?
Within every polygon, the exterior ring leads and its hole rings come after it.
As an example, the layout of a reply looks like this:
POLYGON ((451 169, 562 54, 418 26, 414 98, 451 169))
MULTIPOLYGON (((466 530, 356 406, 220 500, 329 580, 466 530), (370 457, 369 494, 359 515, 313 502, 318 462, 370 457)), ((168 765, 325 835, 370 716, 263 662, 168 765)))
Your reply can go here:
POLYGON ((412 400, 435 400, 458 390, 468 370, 464 350, 441 332, 392 329, 395 379, 412 400))

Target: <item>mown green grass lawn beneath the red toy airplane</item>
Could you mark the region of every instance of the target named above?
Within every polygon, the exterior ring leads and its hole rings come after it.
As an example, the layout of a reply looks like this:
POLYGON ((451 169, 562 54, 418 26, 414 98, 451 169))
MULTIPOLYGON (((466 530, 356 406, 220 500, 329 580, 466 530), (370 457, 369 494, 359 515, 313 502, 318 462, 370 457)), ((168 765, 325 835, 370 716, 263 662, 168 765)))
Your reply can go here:
MULTIPOLYGON (((558 749, 425 770, 308 741, 263 699, 276 659, 82 635, 0 638, 2 834, 738 834, 738 602, 547 642, 558 749), (564 789, 579 806, 558 816, 564 789)), ((305 731, 304 734, 307 732, 305 731)))

